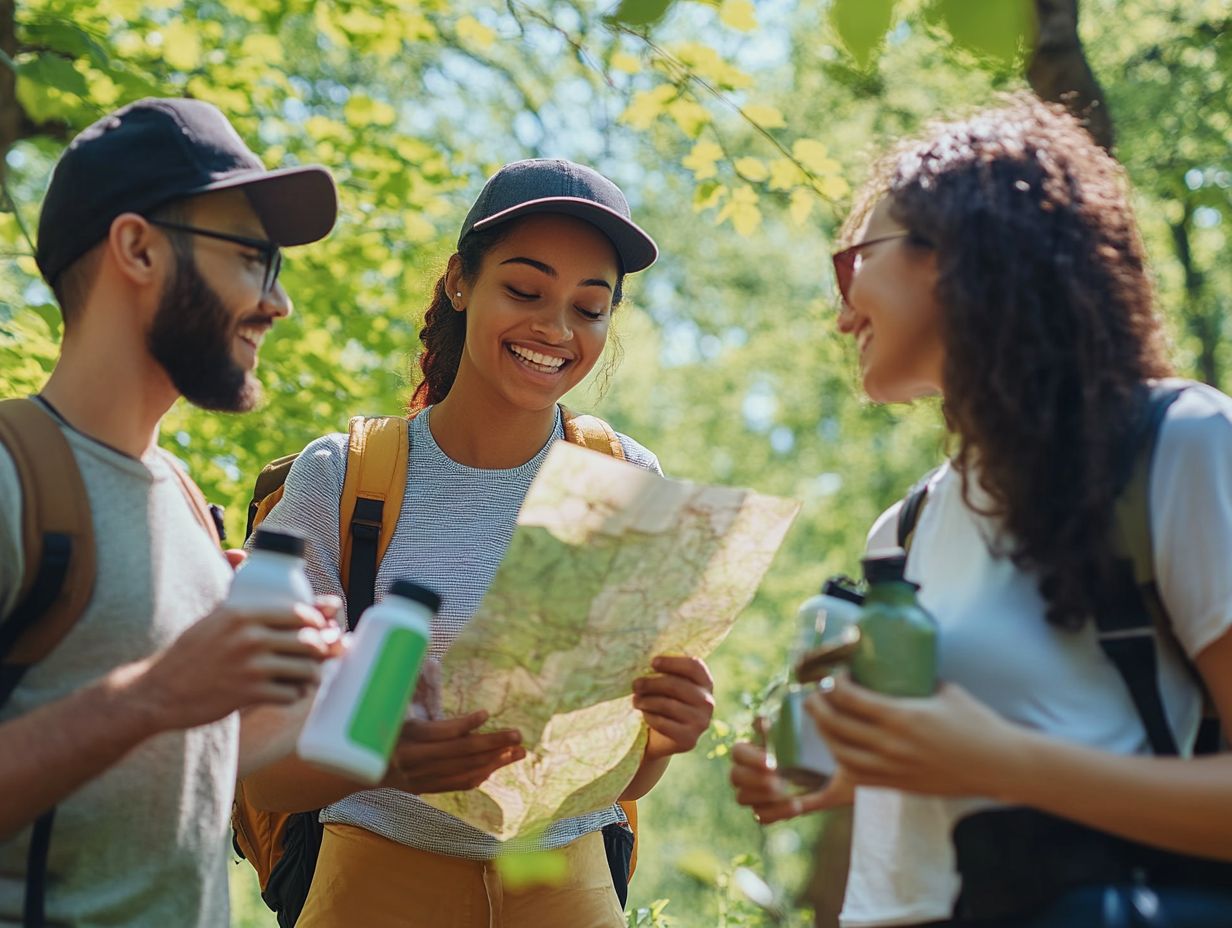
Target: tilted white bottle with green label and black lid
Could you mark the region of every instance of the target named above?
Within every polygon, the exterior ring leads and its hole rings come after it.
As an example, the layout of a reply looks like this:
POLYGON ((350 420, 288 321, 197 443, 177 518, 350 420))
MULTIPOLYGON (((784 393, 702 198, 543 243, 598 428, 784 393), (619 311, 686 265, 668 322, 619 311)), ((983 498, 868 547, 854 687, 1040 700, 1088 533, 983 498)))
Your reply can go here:
POLYGON ((440 605, 432 590, 394 580, 360 616, 350 648, 317 690, 299 757, 361 783, 384 776, 440 605))

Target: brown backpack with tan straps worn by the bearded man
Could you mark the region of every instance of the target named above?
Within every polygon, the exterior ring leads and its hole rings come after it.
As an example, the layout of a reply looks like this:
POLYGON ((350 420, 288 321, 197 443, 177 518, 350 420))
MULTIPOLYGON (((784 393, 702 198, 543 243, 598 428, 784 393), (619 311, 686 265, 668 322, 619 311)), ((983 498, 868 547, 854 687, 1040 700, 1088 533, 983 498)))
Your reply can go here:
MULTIPOLYGON (((55 417, 34 399, 0 401, 0 445, 21 483, 25 569, 16 605, 0 624, 0 705, 26 672, 73 630, 94 594, 94 519, 76 458, 55 417)), ((221 523, 197 486, 172 467, 202 527, 222 546, 221 523)), ((47 857, 55 807, 36 821, 26 858, 22 924, 44 923, 47 857)))

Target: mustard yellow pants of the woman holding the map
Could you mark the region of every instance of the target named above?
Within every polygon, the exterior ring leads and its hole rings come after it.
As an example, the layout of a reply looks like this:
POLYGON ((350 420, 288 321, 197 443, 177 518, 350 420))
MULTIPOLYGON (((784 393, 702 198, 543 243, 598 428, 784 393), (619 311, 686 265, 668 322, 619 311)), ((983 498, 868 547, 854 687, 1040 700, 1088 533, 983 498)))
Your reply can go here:
POLYGON ((562 848, 563 884, 506 889, 490 860, 326 824, 297 928, 623 928, 600 832, 562 848))

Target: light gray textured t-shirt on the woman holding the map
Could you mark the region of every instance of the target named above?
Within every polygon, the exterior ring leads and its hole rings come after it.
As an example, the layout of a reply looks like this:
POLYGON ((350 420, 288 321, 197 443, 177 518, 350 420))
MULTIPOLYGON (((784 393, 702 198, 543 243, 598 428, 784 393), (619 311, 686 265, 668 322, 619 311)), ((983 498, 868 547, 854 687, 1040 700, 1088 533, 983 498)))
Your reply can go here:
MULTIPOLYGON (((479 470, 450 458, 429 429, 431 410, 410 423, 410 462, 398 526, 377 571, 377 601, 394 579, 437 590, 444 603, 432 622, 430 657, 441 659, 474 615, 509 547, 522 499, 556 430, 530 461, 510 470, 479 470)), ((313 441, 287 474, 285 493, 265 525, 309 539, 308 577, 317 593, 342 595, 339 569, 339 500, 346 471, 346 435, 313 441)), ((658 458, 620 435, 630 463, 659 473, 658 458)), ((400 790, 366 790, 322 812, 323 822, 355 824, 421 850, 487 860, 499 853, 559 848, 622 821, 618 806, 552 824, 538 839, 496 842, 489 834, 400 790)))

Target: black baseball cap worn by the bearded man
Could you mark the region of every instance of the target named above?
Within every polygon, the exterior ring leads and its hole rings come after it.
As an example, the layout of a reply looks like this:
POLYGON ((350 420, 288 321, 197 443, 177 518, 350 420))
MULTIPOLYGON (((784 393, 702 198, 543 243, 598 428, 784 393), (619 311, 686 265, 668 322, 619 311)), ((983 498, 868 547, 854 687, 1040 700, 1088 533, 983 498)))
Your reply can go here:
POLYGON ((54 285, 121 213, 235 189, 278 245, 324 238, 338 216, 338 191, 324 168, 266 170, 216 106, 138 100, 84 129, 57 163, 38 221, 38 269, 54 285))

